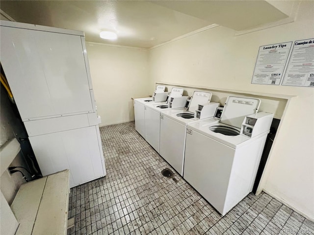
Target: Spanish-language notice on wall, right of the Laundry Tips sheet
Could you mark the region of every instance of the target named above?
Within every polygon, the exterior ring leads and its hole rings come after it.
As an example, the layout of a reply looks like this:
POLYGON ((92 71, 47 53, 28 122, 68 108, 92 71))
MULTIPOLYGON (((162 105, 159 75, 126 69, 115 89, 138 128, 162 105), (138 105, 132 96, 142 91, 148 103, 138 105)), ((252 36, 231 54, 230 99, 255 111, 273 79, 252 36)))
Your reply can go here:
POLYGON ((294 42, 282 85, 314 87, 314 38, 294 42))

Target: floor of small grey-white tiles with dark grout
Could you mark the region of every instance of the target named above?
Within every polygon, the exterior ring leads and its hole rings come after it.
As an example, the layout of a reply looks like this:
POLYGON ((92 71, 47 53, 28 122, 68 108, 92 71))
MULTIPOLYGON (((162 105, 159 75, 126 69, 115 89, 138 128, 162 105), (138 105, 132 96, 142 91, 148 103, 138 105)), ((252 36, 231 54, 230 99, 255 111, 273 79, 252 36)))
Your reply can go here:
POLYGON ((68 235, 314 234, 314 223, 276 199, 249 194, 218 214, 135 131, 134 122, 101 128, 107 175, 71 189, 68 235), (161 175, 170 168, 175 179, 161 175))

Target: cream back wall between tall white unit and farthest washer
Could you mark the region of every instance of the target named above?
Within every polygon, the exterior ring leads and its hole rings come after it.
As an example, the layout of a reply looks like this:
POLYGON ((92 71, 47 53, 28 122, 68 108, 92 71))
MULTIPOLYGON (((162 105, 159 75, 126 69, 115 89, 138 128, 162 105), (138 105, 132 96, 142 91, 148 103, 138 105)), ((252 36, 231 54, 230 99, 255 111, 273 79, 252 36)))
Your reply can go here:
POLYGON ((148 96, 148 51, 86 43, 101 126, 134 120, 131 98, 148 96))

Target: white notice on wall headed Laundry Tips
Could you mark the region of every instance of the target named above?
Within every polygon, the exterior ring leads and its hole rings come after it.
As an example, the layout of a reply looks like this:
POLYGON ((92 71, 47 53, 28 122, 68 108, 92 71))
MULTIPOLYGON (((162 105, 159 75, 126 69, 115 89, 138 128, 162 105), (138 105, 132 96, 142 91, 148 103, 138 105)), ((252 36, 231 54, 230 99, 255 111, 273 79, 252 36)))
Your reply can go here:
POLYGON ((280 85, 292 42, 261 46, 256 59, 252 84, 280 85))

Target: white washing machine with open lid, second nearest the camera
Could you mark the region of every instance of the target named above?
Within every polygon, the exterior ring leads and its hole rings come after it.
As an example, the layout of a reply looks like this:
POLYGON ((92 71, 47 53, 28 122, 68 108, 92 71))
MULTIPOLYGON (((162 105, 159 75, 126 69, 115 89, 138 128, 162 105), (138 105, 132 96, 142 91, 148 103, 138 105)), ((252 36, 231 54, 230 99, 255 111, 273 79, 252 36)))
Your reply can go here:
POLYGON ((172 109, 160 113, 159 154, 181 176, 183 175, 186 124, 200 120, 195 117, 195 111, 199 104, 209 104, 210 98, 210 92, 194 91, 187 109, 172 109))

